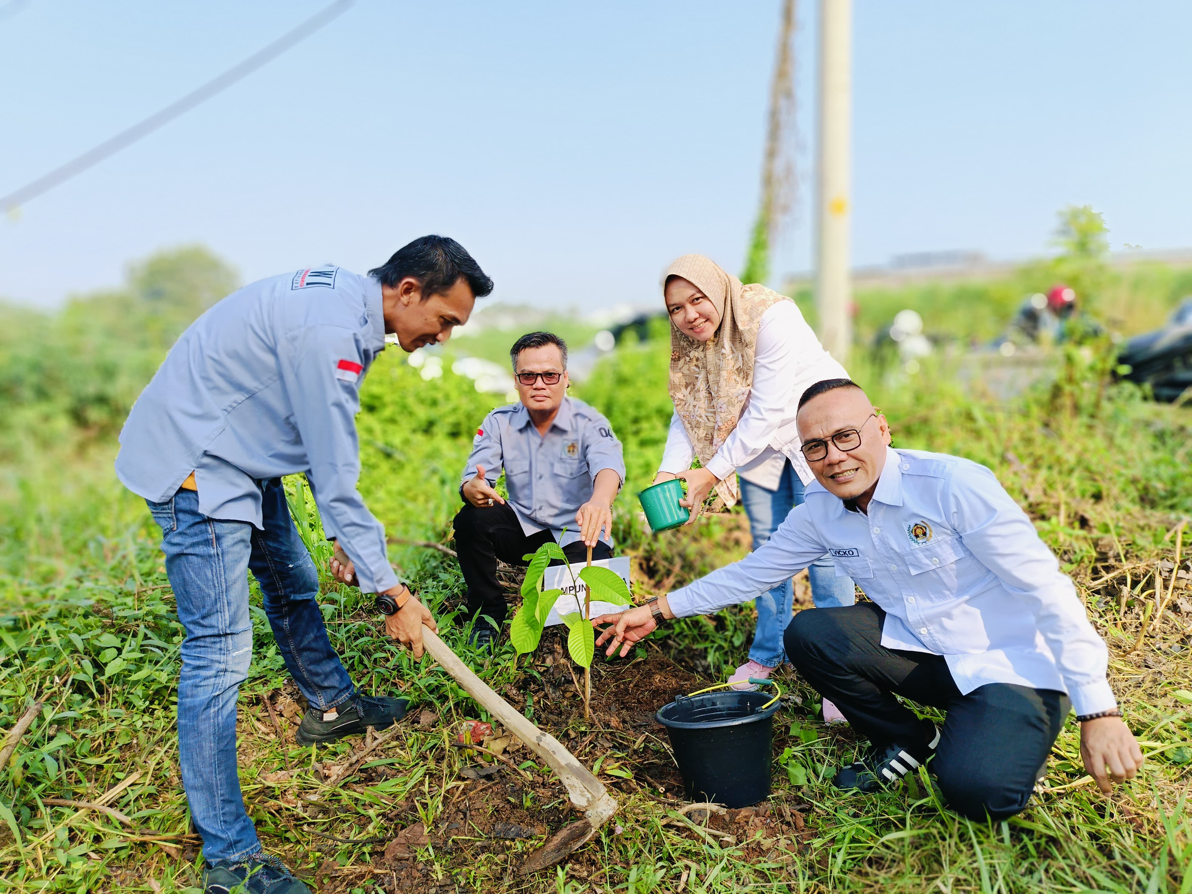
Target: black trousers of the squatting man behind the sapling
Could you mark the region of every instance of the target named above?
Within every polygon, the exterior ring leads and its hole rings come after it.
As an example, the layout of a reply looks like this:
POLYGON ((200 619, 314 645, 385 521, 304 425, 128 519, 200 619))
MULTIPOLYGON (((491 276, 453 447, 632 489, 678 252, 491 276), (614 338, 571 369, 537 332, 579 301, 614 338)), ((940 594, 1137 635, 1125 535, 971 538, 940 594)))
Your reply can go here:
MULTIPOLYGON (((467 584, 468 617, 477 611, 491 617, 497 626, 505 620, 505 595, 497 583, 497 559, 509 565, 526 565, 522 558, 554 539, 550 530, 526 535, 517 514, 508 505, 474 507, 465 503, 455 515, 455 552, 467 584)), ((582 541, 567 544, 563 553, 569 563, 588 558, 582 541)), ((613 551, 601 541, 592 547, 592 559, 609 559, 613 551)), ((561 565, 561 561, 552 561, 561 565)))

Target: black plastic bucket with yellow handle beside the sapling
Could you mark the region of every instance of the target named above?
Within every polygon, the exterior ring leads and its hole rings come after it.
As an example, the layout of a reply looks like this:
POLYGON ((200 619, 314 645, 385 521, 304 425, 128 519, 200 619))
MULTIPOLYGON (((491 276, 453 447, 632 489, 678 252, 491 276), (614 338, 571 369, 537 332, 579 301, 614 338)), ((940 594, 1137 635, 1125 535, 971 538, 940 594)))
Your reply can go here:
POLYGON ((732 690, 681 695, 658 709, 654 716, 670 735, 688 800, 747 807, 769 797, 770 739, 780 707, 768 693, 732 690))

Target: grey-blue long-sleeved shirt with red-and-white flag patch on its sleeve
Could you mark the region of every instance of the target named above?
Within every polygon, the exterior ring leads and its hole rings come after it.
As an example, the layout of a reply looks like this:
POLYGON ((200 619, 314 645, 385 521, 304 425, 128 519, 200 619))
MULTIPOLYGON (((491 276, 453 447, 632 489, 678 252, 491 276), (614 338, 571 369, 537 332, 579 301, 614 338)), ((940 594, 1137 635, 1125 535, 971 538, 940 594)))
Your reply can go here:
POLYGON ((141 392, 116 474, 155 503, 194 472, 199 511, 263 528, 260 482, 305 472, 360 589, 397 585, 356 491, 360 383, 385 348, 380 283, 334 266, 244 286, 182 333, 141 392))

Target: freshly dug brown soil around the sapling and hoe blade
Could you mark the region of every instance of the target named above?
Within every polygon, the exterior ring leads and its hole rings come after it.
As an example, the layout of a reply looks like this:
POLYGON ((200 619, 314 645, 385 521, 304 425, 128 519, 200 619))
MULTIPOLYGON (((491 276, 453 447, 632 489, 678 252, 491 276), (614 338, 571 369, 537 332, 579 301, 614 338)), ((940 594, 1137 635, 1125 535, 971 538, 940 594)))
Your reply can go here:
MULTIPOLYGON (((668 753, 666 733, 654 713, 676 695, 710 685, 709 681, 679 668, 648 644, 645 657, 633 653, 623 659, 606 660, 597 653, 591 669, 591 716, 585 720, 583 669, 567 656, 566 628, 548 628, 538 651, 522 666, 524 670, 514 684, 505 687, 502 696, 558 738, 585 766, 596 768, 601 762, 601 781, 614 797, 623 801, 637 794, 670 808, 683 805, 682 777, 668 753), (610 775, 607 772, 610 768, 621 768, 632 778, 610 775)), ((424 718, 414 712, 406 722, 427 730, 441 721, 429 712, 424 718)), ((454 739, 454 728, 449 732, 449 738, 454 739)), ((497 730, 493 738, 504 735, 508 734, 497 730)), ((491 871, 486 876, 493 887, 498 887, 502 874, 504 882, 511 883, 535 846, 566 824, 581 819, 553 774, 534 774, 526 780, 501 760, 480 752, 468 753, 471 757, 464 763, 470 765, 462 766, 455 780, 448 780, 448 783, 462 786, 448 789, 442 811, 430 830, 422 826, 412 801, 395 805, 385 813, 392 837, 371 846, 372 867, 341 869, 330 861, 324 862, 319 870, 319 890, 347 892, 366 880, 393 892, 468 889, 465 879, 482 864, 497 871, 496 876, 491 871), (446 876, 434 864, 418 862, 417 851, 427 845, 434 848, 440 867, 446 862, 449 868, 446 876)), ((536 758, 516 741, 505 757, 515 764, 536 758)), ((368 768, 359 771, 355 781, 368 784, 385 778, 389 772, 384 766, 368 768)), ((806 809, 807 806, 797 800, 786 803, 771 799, 740 811, 710 814, 691 811, 687 814, 689 821, 668 821, 694 840, 707 840, 710 836, 719 842, 741 842, 760 831, 764 843, 751 844, 744 852, 750 858, 781 859, 812 837, 803 820, 802 811, 806 809)), ((607 879, 609 868, 601 861, 601 851, 591 846, 566 857, 570 875, 592 883, 607 879)), ((538 889, 535 886, 544 877, 526 880, 527 889, 538 889)))

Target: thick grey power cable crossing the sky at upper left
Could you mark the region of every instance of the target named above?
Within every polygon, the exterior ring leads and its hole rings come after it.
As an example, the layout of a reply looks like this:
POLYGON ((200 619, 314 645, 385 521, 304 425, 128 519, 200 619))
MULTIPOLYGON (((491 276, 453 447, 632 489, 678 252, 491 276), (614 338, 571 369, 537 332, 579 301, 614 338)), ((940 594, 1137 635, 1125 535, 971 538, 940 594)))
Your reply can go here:
MULTIPOLYGON (((17 0, 13 0, 15 2, 17 0)), ((75 174, 81 174, 87 168, 91 168, 105 159, 116 155, 116 153, 125 149, 132 143, 137 142, 142 137, 153 134, 159 128, 168 124, 181 114, 194 108, 200 103, 204 103, 211 97, 228 89, 234 83, 243 80, 253 72, 259 69, 267 62, 280 56, 283 52, 288 50, 291 46, 310 37, 312 33, 322 29, 324 25, 330 23, 333 19, 343 14, 355 0, 335 0, 331 5, 324 7, 322 11, 311 15, 304 23, 298 25, 298 27, 292 31, 286 32, 277 41, 271 43, 268 46, 257 50, 247 60, 241 62, 232 68, 229 68, 218 77, 215 77, 201 87, 191 93, 187 93, 181 99, 172 103, 170 105, 162 108, 156 114, 151 114, 138 124, 134 124, 128 130, 117 134, 114 137, 104 141, 94 149, 89 149, 79 157, 68 161, 60 168, 55 168, 49 174, 39 176, 31 184, 27 184, 15 192, 8 193, 7 195, 0 198, 0 209, 5 212, 12 212, 18 209, 24 203, 30 199, 35 199, 44 192, 52 190, 55 186, 66 182, 75 174)), ((10 4, 11 5, 11 4, 10 4)), ((6 7, 0 7, 0 10, 6 7)))

